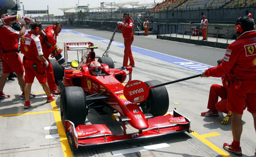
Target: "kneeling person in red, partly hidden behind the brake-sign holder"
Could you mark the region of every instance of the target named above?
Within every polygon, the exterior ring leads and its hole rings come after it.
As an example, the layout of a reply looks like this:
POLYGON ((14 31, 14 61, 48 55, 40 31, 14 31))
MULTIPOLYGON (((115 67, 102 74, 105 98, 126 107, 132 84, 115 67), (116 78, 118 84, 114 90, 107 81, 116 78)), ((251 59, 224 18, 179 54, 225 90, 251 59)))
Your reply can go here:
MULTIPOLYGON (((217 63, 218 65, 220 65, 222 63, 222 60, 218 60, 217 63)), ((221 79, 223 86, 221 86, 220 84, 212 84, 212 86, 210 86, 210 93, 207 106, 209 110, 206 112, 202 112, 201 116, 218 116, 219 111, 224 112, 227 115, 222 119, 221 124, 226 125, 228 124, 229 118, 232 115, 232 112, 226 109, 226 99, 228 97, 228 88, 231 79, 230 73, 223 75, 221 79), (218 101, 219 96, 221 97, 220 101, 218 101)))

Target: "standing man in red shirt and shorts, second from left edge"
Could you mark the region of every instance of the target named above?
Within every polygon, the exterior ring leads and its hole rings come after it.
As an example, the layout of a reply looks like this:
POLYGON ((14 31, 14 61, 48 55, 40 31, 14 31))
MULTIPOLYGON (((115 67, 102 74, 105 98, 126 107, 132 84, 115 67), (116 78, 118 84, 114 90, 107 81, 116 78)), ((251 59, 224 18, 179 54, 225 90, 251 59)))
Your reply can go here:
POLYGON ((20 39, 20 51, 24 54, 23 65, 26 80, 24 109, 28 109, 31 106, 30 91, 35 77, 42 84, 44 92, 46 92, 47 103, 55 99, 55 96, 50 94, 47 84, 46 67, 49 65, 49 62, 43 56, 42 46, 37 37, 41 31, 42 24, 33 23, 31 31, 20 39))

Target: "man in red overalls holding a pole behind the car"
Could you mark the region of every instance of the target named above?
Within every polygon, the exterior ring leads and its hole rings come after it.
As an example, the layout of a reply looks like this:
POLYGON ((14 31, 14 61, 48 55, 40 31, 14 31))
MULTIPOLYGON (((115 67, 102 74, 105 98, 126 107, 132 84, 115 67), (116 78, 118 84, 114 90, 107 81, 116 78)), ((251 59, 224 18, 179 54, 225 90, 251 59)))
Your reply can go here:
POLYGON ((135 67, 133 60, 133 54, 131 53, 131 44, 133 43, 133 21, 130 20, 128 13, 123 14, 125 20, 123 22, 118 22, 119 26, 117 29, 122 29, 123 39, 125 40, 125 54, 123 56, 123 66, 122 69, 126 69, 128 65, 128 59, 130 60, 130 66, 135 67))

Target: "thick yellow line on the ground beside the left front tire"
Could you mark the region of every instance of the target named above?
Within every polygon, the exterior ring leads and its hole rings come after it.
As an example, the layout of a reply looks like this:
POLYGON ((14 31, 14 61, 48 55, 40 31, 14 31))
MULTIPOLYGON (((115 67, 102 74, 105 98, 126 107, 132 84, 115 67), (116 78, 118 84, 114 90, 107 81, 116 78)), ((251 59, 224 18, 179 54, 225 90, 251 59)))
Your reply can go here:
POLYGON ((57 129, 58 129, 58 133, 60 135, 60 143, 61 143, 61 147, 62 147, 64 156, 71 157, 71 156, 73 156, 72 151, 71 151, 71 148, 69 147, 69 144, 68 144, 67 135, 65 133, 65 130, 64 130, 61 118, 60 118, 60 113, 59 113, 59 110, 57 108, 56 101, 52 101, 51 105, 52 105, 52 111, 53 111, 53 114, 54 114, 56 126, 57 126, 57 129))

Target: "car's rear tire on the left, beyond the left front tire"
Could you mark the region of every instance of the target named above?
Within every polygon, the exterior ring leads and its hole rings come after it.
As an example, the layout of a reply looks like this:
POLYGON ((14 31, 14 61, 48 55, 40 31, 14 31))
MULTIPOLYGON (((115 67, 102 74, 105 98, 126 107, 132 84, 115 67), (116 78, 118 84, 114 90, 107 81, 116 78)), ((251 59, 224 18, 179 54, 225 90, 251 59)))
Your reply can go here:
POLYGON ((64 77, 64 67, 60 66, 59 63, 55 60, 49 60, 51 62, 52 65, 52 69, 53 69, 53 76, 55 79, 56 84, 58 84, 58 80, 63 80, 64 77))

